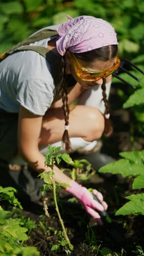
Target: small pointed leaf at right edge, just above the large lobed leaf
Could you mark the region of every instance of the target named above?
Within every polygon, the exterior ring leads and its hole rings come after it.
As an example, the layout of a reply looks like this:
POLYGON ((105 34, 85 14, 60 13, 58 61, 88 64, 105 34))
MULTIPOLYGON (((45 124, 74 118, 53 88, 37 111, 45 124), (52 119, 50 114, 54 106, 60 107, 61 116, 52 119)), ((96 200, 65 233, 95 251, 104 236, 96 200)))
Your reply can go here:
POLYGON ((119 155, 122 158, 126 158, 133 161, 135 164, 144 165, 144 150, 141 151, 131 151, 131 152, 121 152, 119 155))

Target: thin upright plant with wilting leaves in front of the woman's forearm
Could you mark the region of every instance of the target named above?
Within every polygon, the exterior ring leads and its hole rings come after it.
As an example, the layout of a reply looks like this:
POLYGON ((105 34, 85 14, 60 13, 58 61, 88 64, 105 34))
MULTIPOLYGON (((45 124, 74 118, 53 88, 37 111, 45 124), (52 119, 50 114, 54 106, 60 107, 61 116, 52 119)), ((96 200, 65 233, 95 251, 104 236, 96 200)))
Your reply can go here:
MULTIPOLYGON (((68 235, 67 235, 67 231, 65 230, 64 223, 63 223, 63 220, 61 218, 61 214, 59 212, 59 208, 58 208, 58 204, 57 204, 57 196, 56 196, 56 188, 60 188, 64 185, 67 187, 68 185, 65 184, 65 183, 58 183, 58 184, 55 183, 55 180, 53 178, 53 175, 55 174, 53 168, 54 168, 55 162, 57 162, 57 164, 59 164, 62 159, 65 162, 67 162, 68 164, 73 163, 73 161, 70 158, 69 154, 67 154, 67 153, 63 153, 63 154, 58 153, 59 149, 61 149, 61 147, 56 148, 56 147, 52 147, 51 145, 49 145, 49 147, 48 147, 49 153, 45 154, 45 164, 47 166, 51 167, 51 171, 40 173, 39 177, 40 177, 40 179, 44 179, 44 182, 46 183, 41 187, 41 192, 42 192, 43 195, 46 193, 47 189, 52 189, 53 190, 53 200, 55 202, 56 212, 58 214, 59 222, 61 223, 62 230, 63 230, 63 233, 61 233, 61 235, 63 235, 63 237, 65 238, 65 240, 62 238, 62 241, 61 241, 60 244, 62 246, 68 245, 70 251, 72 251, 73 250, 73 245, 71 245, 71 243, 69 241, 69 238, 68 238, 68 235)), ((47 197, 45 197, 44 208, 45 208, 46 216, 49 217, 49 213, 47 211, 46 201, 47 201, 47 197)), ((52 246, 52 251, 54 249, 57 250, 58 248, 59 248, 59 244, 56 245, 56 246, 53 245, 52 246)))

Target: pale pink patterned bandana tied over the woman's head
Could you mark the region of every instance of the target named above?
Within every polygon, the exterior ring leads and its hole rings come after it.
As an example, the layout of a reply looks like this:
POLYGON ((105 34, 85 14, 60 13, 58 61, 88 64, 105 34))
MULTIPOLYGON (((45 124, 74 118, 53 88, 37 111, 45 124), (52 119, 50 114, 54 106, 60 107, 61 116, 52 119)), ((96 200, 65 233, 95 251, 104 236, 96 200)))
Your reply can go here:
POLYGON ((92 16, 70 18, 58 27, 56 42, 62 56, 69 49, 71 53, 85 53, 102 46, 118 44, 115 29, 105 20, 92 16))

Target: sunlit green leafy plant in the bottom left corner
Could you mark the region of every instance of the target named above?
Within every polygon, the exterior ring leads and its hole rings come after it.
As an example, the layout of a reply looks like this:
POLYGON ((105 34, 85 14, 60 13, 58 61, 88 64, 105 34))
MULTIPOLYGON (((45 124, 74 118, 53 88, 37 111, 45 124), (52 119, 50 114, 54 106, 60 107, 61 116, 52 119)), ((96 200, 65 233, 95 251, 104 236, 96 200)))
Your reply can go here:
MULTIPOLYGON (((14 195, 15 192, 16 189, 11 187, 0 187, 0 200, 8 200, 11 204, 22 209, 20 202, 14 195)), ((4 211, 0 206, 0 255, 39 255, 36 247, 25 246, 24 242, 28 240, 26 234, 28 228, 22 227, 23 224, 21 219, 11 218, 11 213, 4 211)), ((28 220, 27 225, 29 229, 33 228, 30 220, 28 220)))

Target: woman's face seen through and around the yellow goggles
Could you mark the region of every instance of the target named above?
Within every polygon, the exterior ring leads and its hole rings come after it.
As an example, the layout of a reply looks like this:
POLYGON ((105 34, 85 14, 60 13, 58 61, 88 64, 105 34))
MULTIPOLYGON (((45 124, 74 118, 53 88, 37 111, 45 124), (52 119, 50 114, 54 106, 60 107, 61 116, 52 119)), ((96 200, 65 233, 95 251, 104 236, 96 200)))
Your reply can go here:
MULTIPOLYGON (((73 62, 71 61, 71 55, 68 53, 68 56, 66 55, 66 58, 68 57, 68 59, 66 60, 66 73, 67 74, 71 74, 73 75, 73 77, 75 78, 75 80, 81 84, 81 86, 85 89, 89 88, 89 87, 93 87, 95 85, 102 85, 103 84, 103 79, 99 79, 97 81, 85 81, 82 80, 81 78, 77 77, 77 74, 75 72, 75 68, 73 65, 73 62)), ((82 67, 88 68, 88 69, 92 69, 92 70, 97 70, 97 71, 101 71, 101 70, 107 70, 110 69, 114 62, 115 62, 115 58, 109 61, 93 61, 92 63, 88 63, 88 62, 84 62, 79 60, 80 64, 82 67)), ((109 83, 111 80, 112 75, 109 75, 109 77, 106 77, 106 82, 109 83)))

